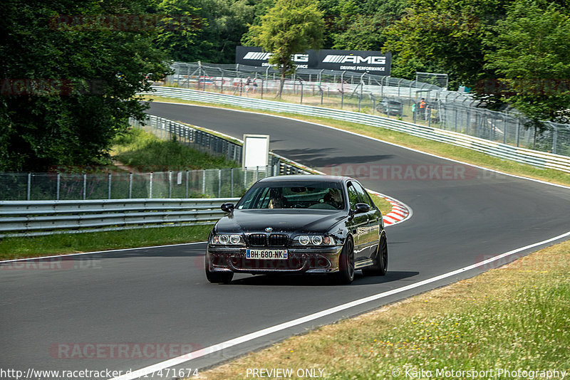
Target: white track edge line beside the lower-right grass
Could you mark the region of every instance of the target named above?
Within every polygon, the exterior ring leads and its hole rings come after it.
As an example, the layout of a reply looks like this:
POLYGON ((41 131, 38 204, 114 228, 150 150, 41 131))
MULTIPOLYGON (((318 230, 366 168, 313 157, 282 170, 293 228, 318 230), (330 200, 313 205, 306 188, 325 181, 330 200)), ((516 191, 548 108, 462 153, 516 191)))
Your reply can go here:
POLYGON ((563 234, 561 234, 561 235, 559 235, 559 236, 554 236, 554 238, 549 238, 549 239, 546 239, 546 240, 544 240, 544 241, 539 241, 538 243, 529 244, 528 246, 524 246, 524 247, 522 247, 522 248, 516 248, 516 249, 514 249, 514 250, 509 250, 509 252, 502 253, 502 254, 497 255, 497 256, 494 256, 494 257, 492 257, 492 258, 488 258, 487 260, 482 260, 482 261, 480 261, 479 263, 475 263, 475 264, 472 264, 472 265, 467 265, 466 267, 463 267, 463 268, 460 268, 460 269, 457 269, 457 270, 452 270, 451 272, 444 273, 444 274, 442 274, 442 275, 437 275, 437 276, 435 276, 435 277, 428 278, 428 279, 426 279, 426 280, 422 280, 422 281, 420 281, 420 282, 418 282, 418 283, 406 285, 406 286, 403 286, 403 287, 398 287, 397 289, 388 290, 388 292, 382 292, 382 293, 378 293, 378 294, 376 294, 376 295, 371 295, 371 296, 368 296, 368 297, 364 297, 364 298, 361 298, 360 300, 354 300, 354 301, 351 301, 351 302, 347 302, 346 304, 338 305, 338 306, 336 306, 336 307, 331 307, 331 308, 329 308, 329 309, 322 310, 322 311, 320 311, 320 312, 316 312, 316 313, 311 314, 311 315, 306 315, 305 317, 297 318, 296 320, 291 320, 291 321, 289 321, 289 322, 284 322, 284 323, 281 323, 281 324, 276 324, 275 326, 267 327, 266 329, 261 329, 261 330, 259 330, 259 331, 257 331, 257 332, 252 332, 252 333, 249 333, 249 334, 242 335, 242 337, 237 337, 237 338, 234 338, 234 339, 229 339, 229 340, 227 340, 227 341, 225 341, 225 342, 222 342, 222 343, 219 343, 219 344, 214 344, 213 346, 205 347, 205 348, 203 348, 203 349, 198 349, 198 350, 196 350, 196 351, 189 352, 188 354, 182 355, 182 356, 180 356, 180 357, 175 357, 175 358, 172 358, 172 359, 168 359, 168 360, 166 360, 166 361, 161 361, 160 363, 152 364, 152 365, 150 365, 150 366, 146 366, 146 367, 144 367, 144 368, 142 368, 142 369, 138 369, 138 370, 136 370, 136 371, 133 371, 133 372, 131 372, 130 374, 125 374, 125 375, 123 375, 123 376, 118 376, 118 377, 115 377, 115 378, 113 378, 113 379, 111 379, 111 380, 132 380, 132 379, 138 379, 140 376, 145 376, 145 375, 148 375, 148 374, 152 374, 153 372, 160 371, 161 369, 167 369, 167 368, 169 368, 169 367, 171 367, 171 366, 175 366, 175 365, 177 365, 177 364, 182 364, 182 363, 184 363, 185 361, 190 361, 190 360, 192 360, 192 359, 197 359, 197 358, 199 358, 199 357, 204 357, 204 356, 207 355, 207 354, 212 354, 212 353, 214 353, 214 352, 222 351, 223 349, 227 349, 227 348, 229 348, 229 347, 233 347, 233 346, 235 346, 235 345, 237 345, 237 344, 241 344, 241 343, 244 343, 244 342, 249 342, 249 341, 252 340, 252 339, 256 339, 256 338, 259 338, 259 337, 264 337, 265 335, 272 334, 272 333, 274 333, 274 332, 279 332, 279 331, 281 331, 281 330, 288 329, 288 328, 290 328, 290 327, 294 327, 294 326, 297 326, 297 325, 299 325, 299 324, 303 324, 303 323, 305 323, 305 322, 311 322, 312 320, 316 320, 316 319, 321 318, 321 317, 326 317, 327 315, 331 315, 331 314, 336 313, 336 312, 341 312, 341 311, 346 310, 346 309, 349 309, 349 308, 351 308, 351 307, 355 307, 355 306, 358 306, 358 305, 362 305, 362 304, 364 304, 364 303, 366 303, 366 302, 371 302, 371 301, 379 300, 380 298, 388 297, 388 296, 390 296, 390 295, 395 295, 395 294, 398 294, 398 293, 400 293, 400 292, 405 292, 405 291, 407 291, 407 290, 412 290, 412 289, 415 289, 416 287, 420 287, 420 286, 427 285, 427 284, 430 284, 430 283, 435 283, 435 282, 438 281, 438 280, 443 280, 443 279, 445 279, 445 278, 452 277, 453 275, 458 275, 458 274, 460 274, 460 273, 464 273, 464 272, 466 272, 467 270, 472 270, 472 269, 475 269, 475 268, 480 267, 480 266, 482 266, 482 265, 486 265, 486 264, 488 264, 488 263, 492 263, 492 262, 495 261, 495 260, 499 260, 499 259, 505 258, 505 257, 507 257, 507 256, 509 256, 509 255, 513 255, 514 253, 519 253, 519 252, 522 251, 522 250, 527 250, 527 249, 529 249, 529 248, 534 248, 534 247, 537 247, 537 246, 542 246, 542 245, 544 245, 544 244, 546 244, 546 243, 551 243, 551 242, 557 241, 557 240, 559 240, 559 239, 561 239, 561 238, 566 238, 566 237, 568 237, 568 236, 570 236, 570 231, 568 231, 568 232, 566 232, 566 233, 563 233, 563 234))

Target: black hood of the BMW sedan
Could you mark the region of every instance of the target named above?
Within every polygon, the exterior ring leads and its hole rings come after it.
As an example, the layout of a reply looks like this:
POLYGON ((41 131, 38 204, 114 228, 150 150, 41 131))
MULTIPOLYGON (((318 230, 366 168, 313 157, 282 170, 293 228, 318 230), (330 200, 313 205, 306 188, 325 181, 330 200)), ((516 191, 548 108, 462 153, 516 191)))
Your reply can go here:
POLYGON ((307 209, 234 210, 221 218, 218 233, 325 233, 346 218, 346 211, 307 209))

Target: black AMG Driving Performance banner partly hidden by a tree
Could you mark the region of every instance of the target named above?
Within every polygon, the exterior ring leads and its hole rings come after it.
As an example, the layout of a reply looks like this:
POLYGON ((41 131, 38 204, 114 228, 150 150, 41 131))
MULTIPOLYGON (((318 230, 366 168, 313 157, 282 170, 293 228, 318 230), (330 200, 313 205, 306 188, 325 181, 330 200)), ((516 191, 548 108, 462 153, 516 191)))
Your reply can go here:
MULTIPOLYGON (((266 53, 262 48, 236 47, 236 63, 240 65, 267 67, 270 56, 271 53, 266 53)), ((302 54, 294 54, 293 61, 297 68, 390 75, 392 55, 381 51, 309 50, 302 54)))

